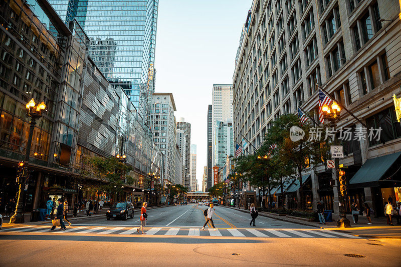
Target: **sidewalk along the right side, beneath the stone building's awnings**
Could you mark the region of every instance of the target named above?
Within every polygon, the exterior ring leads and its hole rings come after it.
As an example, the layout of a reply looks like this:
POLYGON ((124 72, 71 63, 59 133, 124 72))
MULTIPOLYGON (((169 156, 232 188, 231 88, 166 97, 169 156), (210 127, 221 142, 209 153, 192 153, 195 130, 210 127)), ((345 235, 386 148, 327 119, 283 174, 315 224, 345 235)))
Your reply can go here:
MULTIPOLYGON (((236 209, 242 212, 249 213, 247 209, 240 209, 237 207, 230 207, 230 206, 223 206, 226 208, 236 209)), ((397 220, 393 219, 392 223, 394 226, 387 225, 387 219, 385 217, 374 218, 372 217, 372 224, 367 224, 366 216, 359 216, 358 224, 353 223, 352 216, 350 214, 347 215, 347 218, 351 222, 351 227, 347 228, 340 228, 337 227, 337 219, 339 215, 333 214, 334 221, 328 221, 326 224, 319 224, 318 221, 306 221, 302 218, 296 219, 292 216, 280 216, 274 213, 260 211, 259 215, 274 218, 277 220, 293 222, 301 225, 313 226, 322 229, 329 229, 329 230, 338 230, 346 233, 350 233, 355 236, 360 237, 368 237, 368 238, 401 238, 401 225, 397 225, 397 220)))

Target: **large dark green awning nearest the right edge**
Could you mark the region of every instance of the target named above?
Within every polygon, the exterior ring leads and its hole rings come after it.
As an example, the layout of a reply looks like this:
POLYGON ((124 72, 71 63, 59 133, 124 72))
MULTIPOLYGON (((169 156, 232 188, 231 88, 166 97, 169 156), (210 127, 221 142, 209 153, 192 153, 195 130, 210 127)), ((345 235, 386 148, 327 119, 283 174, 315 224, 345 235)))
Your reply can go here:
POLYGON ((384 173, 395 162, 395 160, 397 160, 399 155, 401 155, 401 152, 378 156, 366 160, 366 162, 360 167, 360 169, 358 169, 355 175, 349 180, 349 184, 360 184, 380 180, 384 173))

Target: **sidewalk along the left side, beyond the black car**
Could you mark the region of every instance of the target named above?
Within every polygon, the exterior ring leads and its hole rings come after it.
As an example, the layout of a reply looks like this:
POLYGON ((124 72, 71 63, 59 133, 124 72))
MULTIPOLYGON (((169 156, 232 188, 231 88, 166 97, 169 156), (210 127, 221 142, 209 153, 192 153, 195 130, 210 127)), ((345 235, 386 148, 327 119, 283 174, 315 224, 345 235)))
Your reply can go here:
MULTIPOLYGON (((167 206, 170 206, 170 205, 148 207, 147 210, 154 209, 154 208, 167 207, 167 206)), ((74 221, 74 220, 77 220, 77 219, 86 219, 86 218, 101 217, 101 216, 105 216, 105 215, 106 215, 107 209, 109 209, 109 208, 108 208, 108 207, 103 207, 103 210, 102 210, 102 211, 98 210, 97 214, 93 214, 93 210, 92 210, 92 211, 91 211, 91 212, 92 212, 92 215, 91 215, 91 216, 86 216, 86 215, 85 215, 85 210, 81 210, 81 209, 80 209, 80 210, 78 211, 77 217, 73 217, 72 214, 68 214, 67 218, 68 218, 68 220, 74 221)), ((140 211, 141 211, 140 208, 134 209, 134 212, 135 212, 135 213, 136 213, 136 212, 140 212, 140 211)), ((3 215, 3 214, 2 214, 2 215, 3 215)), ((25 213, 25 222, 24 222, 24 223, 9 223, 9 222, 10 222, 10 217, 5 217, 5 216, 3 216, 3 228, 5 228, 5 227, 14 228, 14 227, 24 226, 24 225, 27 225, 27 224, 29 224, 29 225, 39 225, 39 224, 52 223, 52 220, 51 220, 51 219, 42 220, 42 221, 30 221, 30 219, 31 219, 31 212, 25 213)), ((78 222, 77 222, 77 223, 78 223, 78 222)), ((68 224, 68 223, 67 223, 67 224, 68 224)))

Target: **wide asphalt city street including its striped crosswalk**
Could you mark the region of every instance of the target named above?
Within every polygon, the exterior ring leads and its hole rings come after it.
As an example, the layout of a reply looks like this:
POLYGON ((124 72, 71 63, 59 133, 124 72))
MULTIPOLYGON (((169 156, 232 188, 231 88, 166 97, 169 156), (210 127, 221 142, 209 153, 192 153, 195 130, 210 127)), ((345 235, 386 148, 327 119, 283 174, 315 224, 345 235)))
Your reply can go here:
MULTIPOLYGON (((365 239, 216 207, 217 230, 202 230, 205 206, 194 204, 148 210, 147 234, 133 219, 80 219, 66 231, 26 225, 0 231, 0 265, 388 265, 399 259, 399 239, 365 239), (115 256, 118 254, 118 256, 115 256), (348 257, 358 254, 365 257, 348 257), (179 259, 179 261, 177 261, 179 259)), ((57 227, 59 228, 59 227, 57 227)))

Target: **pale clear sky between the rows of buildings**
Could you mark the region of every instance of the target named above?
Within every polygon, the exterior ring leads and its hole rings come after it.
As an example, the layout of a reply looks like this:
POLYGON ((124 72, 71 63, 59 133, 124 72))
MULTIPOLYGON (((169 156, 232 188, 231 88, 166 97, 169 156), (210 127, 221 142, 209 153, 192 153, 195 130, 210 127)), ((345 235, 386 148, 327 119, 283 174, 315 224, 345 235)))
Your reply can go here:
POLYGON ((207 114, 214 83, 233 83, 242 25, 252 0, 159 0, 156 92, 171 92, 191 123, 199 190, 207 161, 207 114))

